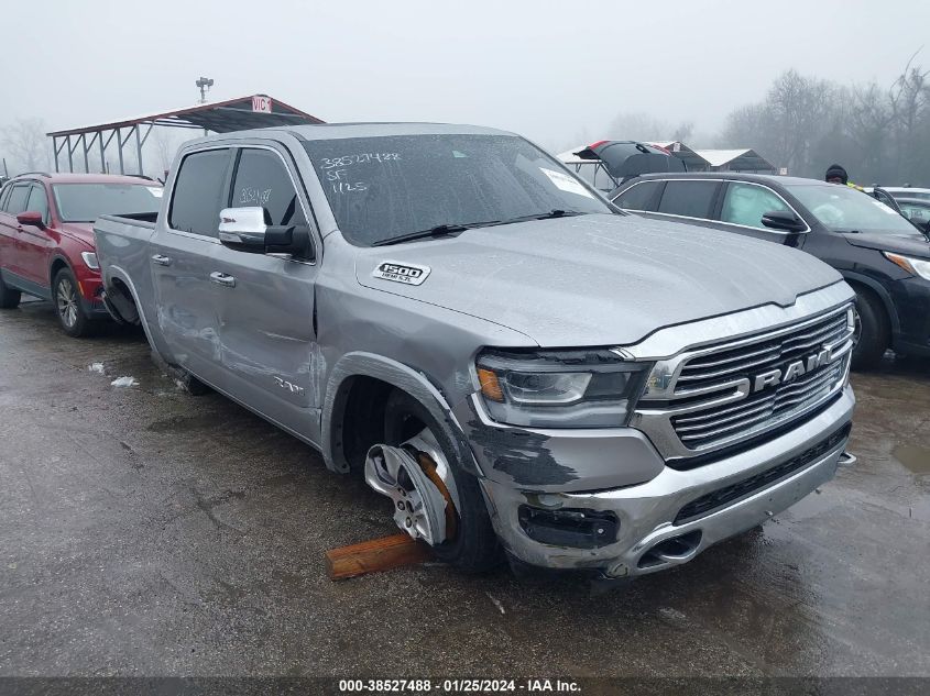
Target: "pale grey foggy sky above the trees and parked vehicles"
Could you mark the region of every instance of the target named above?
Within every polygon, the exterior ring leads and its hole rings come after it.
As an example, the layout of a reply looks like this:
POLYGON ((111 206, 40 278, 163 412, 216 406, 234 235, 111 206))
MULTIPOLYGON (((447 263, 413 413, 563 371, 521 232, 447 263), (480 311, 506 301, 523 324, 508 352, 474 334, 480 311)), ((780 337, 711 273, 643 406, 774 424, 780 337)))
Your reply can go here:
POLYGON ((4 3, 3 25, 0 125, 189 106, 205 75, 210 99, 264 92, 327 121, 475 123, 557 147, 619 112, 712 133, 789 67, 885 86, 930 44, 930 3, 59 0, 4 3))

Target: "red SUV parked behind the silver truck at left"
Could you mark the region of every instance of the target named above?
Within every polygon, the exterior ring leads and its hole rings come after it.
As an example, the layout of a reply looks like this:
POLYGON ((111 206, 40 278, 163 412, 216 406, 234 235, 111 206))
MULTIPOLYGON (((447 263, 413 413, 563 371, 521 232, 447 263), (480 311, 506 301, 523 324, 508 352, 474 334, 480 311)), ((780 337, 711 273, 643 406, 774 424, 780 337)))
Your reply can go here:
POLYGON ((65 333, 87 335, 106 319, 94 221, 156 212, 162 186, 109 174, 23 174, 0 190, 0 308, 22 292, 52 300, 65 333))

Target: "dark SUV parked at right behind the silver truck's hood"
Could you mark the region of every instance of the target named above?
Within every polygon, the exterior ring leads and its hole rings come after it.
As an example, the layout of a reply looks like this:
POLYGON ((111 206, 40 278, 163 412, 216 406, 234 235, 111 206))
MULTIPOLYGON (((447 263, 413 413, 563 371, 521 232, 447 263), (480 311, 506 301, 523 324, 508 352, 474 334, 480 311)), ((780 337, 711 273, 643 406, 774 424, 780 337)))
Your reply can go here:
POLYGON ((862 191, 755 174, 654 174, 631 179, 610 199, 647 218, 795 246, 833 266, 856 291, 856 367, 874 366, 888 347, 930 355, 930 242, 862 191))

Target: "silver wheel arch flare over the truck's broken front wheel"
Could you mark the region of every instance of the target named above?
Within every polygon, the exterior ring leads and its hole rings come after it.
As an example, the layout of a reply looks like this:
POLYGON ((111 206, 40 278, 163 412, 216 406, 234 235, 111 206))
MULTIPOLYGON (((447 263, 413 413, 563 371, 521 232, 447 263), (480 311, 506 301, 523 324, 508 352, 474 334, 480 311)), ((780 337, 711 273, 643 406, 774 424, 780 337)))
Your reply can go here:
POLYGON ((452 454, 466 471, 479 473, 471 448, 468 445, 461 426, 452 415, 452 409, 426 375, 390 357, 365 352, 343 355, 333 366, 327 382, 320 429, 321 449, 327 468, 339 473, 349 471, 349 462, 346 459, 341 439, 341 421, 352 377, 380 379, 419 401, 446 431, 449 442, 457 450, 452 454))

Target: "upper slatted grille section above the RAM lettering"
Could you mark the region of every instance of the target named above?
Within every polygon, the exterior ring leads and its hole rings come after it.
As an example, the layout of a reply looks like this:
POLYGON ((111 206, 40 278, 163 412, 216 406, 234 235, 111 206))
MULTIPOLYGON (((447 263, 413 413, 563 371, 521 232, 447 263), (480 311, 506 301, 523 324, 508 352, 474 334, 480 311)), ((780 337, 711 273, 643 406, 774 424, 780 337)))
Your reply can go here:
POLYGON ((682 366, 675 393, 687 395, 724 385, 748 373, 778 367, 810 354, 823 344, 839 341, 847 332, 846 312, 843 310, 777 338, 693 357, 682 366))

